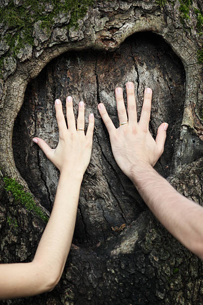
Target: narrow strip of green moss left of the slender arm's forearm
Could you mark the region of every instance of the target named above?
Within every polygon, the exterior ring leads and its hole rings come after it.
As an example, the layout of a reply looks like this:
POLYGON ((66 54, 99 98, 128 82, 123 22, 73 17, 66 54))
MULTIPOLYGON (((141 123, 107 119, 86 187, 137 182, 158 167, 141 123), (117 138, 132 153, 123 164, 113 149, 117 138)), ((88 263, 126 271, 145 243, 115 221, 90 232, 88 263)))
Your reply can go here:
POLYGON ((36 206, 32 195, 29 192, 23 190, 23 186, 15 179, 4 177, 3 181, 5 183, 5 190, 11 191, 15 201, 23 204, 28 211, 34 211, 43 221, 47 222, 49 218, 45 215, 43 210, 36 206))

